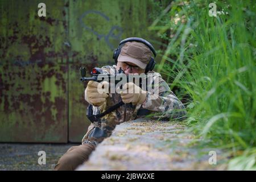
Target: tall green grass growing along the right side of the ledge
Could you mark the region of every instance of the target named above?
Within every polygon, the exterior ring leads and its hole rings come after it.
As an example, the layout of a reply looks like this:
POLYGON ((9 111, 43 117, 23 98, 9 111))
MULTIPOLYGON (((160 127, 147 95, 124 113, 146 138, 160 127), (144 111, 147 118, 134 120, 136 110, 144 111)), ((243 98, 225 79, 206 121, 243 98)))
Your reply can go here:
POLYGON ((255 3, 216 1, 228 14, 210 17, 210 1, 180 2, 149 28, 168 42, 158 71, 187 99, 190 130, 237 157, 229 169, 255 169, 255 3))

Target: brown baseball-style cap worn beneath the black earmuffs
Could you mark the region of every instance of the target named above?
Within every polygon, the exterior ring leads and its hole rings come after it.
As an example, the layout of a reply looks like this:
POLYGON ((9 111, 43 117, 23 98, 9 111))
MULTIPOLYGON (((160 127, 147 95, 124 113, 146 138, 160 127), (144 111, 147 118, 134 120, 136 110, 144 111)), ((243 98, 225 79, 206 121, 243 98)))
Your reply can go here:
POLYGON ((151 50, 140 42, 127 42, 123 45, 117 61, 136 64, 145 69, 151 59, 151 50))

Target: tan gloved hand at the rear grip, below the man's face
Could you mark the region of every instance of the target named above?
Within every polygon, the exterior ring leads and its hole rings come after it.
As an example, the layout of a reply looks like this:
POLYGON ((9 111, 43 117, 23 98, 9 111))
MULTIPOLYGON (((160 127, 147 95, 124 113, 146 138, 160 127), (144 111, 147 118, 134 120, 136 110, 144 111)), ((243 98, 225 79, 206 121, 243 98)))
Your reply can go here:
POLYGON ((127 82, 121 89, 121 97, 124 103, 142 104, 146 100, 147 92, 133 82, 127 82))

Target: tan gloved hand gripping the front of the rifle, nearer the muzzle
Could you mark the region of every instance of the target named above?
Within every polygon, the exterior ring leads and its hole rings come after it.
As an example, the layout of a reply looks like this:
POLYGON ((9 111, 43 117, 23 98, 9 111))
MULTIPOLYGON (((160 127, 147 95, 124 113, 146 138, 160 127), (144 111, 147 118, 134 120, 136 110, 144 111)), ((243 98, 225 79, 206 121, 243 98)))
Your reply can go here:
POLYGON ((103 81, 102 83, 99 83, 97 81, 89 81, 84 92, 85 101, 94 106, 101 106, 104 104, 106 98, 109 97, 104 88, 108 89, 108 82, 103 81))

